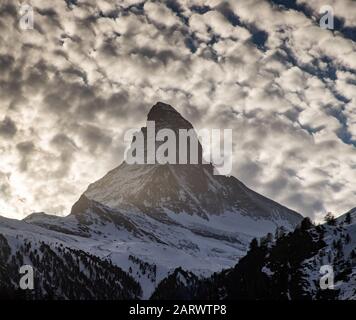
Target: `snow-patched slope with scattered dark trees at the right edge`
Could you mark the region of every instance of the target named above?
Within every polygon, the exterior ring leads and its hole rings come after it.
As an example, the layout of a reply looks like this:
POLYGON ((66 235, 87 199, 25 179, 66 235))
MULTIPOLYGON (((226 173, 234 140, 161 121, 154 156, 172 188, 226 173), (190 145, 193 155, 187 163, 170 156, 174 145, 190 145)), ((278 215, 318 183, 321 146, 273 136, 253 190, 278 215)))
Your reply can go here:
MULTIPOLYGON (((305 248, 304 254, 309 257, 294 266, 293 272, 299 277, 299 295, 310 299, 355 300, 356 209, 338 217, 333 224, 324 223, 317 228, 311 228, 308 234, 319 249, 313 252, 305 248), (346 218, 348 214, 350 221, 346 218), (320 287, 323 266, 330 266, 334 272, 332 290, 322 290, 320 287)), ((275 245, 278 250, 278 243, 275 245)), ((283 266, 277 267, 283 270, 283 266)), ((262 271, 270 279, 276 276, 268 257, 262 271)))

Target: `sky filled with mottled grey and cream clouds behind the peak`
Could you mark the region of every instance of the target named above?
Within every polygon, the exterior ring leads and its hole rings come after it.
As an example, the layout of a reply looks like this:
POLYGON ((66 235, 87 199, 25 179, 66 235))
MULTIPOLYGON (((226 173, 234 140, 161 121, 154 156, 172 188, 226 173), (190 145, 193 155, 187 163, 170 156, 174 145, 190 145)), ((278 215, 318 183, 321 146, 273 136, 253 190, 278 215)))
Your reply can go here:
POLYGON ((256 191, 315 219, 356 206, 356 2, 26 3, 33 30, 0 0, 1 215, 69 213, 156 101, 233 129, 256 191))

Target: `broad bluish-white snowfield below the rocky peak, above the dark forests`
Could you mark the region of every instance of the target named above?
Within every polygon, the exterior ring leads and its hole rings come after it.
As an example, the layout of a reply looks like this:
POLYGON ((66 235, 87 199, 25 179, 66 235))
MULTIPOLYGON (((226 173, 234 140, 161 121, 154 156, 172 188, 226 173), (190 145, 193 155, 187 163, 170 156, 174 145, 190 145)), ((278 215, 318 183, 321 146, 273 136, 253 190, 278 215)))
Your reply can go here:
MULTIPOLYGON (((272 222, 236 212, 207 220, 167 210, 169 222, 162 222, 150 215, 113 210, 84 196, 79 202, 81 213, 74 211, 65 218, 35 214, 26 222, 50 229, 47 241, 63 237, 67 246, 110 259, 141 283, 143 298, 148 298, 155 285, 176 267, 209 276, 233 266, 246 253, 253 237, 273 232, 276 225, 290 228, 283 219, 272 222), (130 256, 141 263, 134 263, 130 256), (140 264, 144 263, 154 266, 155 275, 143 274, 140 264)), ((15 233, 21 228, 24 225, 17 226, 15 233)), ((37 231, 33 237, 37 237, 37 233, 46 235, 46 230, 39 230, 41 232, 37 231)))

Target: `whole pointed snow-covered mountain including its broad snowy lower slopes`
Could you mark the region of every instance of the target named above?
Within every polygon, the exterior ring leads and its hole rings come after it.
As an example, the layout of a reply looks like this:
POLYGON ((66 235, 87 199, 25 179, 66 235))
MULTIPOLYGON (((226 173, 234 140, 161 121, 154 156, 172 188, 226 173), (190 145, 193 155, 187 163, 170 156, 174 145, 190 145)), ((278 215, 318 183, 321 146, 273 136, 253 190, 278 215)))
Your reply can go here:
MULTIPOLYGON (((147 120, 155 121, 156 130, 193 128, 164 103, 153 106, 147 120)), ((147 137, 147 128, 141 130, 147 137)), ((199 158, 201 154, 199 144, 199 158)), ((282 226, 293 230, 302 220, 236 178, 214 175, 213 170, 211 164, 123 162, 91 184, 66 217, 35 213, 24 221, 1 218, 0 235, 11 250, 7 260, 21 255, 29 242, 31 248, 47 245, 63 260, 60 246, 71 254, 109 261, 110 268, 112 264, 132 283, 140 283, 141 297, 148 298, 177 267, 209 276, 235 265, 252 238, 282 226)), ((131 297, 139 295, 135 290, 131 297)))

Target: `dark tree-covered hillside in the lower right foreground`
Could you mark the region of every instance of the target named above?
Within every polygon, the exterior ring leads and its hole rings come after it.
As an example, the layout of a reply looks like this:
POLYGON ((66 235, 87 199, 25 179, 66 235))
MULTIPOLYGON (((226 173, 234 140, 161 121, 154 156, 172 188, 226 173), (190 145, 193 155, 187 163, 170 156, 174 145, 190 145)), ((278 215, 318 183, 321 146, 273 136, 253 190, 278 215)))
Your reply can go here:
POLYGON ((152 299, 355 300, 356 210, 319 226, 304 219, 291 233, 253 241, 234 268, 207 279, 177 268, 152 299), (332 267, 333 288, 320 286, 323 266, 332 267))

